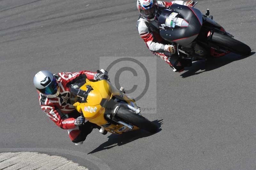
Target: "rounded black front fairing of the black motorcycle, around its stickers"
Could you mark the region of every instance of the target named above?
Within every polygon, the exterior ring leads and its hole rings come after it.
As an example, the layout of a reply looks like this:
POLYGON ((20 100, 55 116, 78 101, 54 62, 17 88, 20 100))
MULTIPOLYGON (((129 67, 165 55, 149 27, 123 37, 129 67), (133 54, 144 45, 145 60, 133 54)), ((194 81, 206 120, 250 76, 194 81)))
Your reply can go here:
MULTIPOLYGON (((173 19, 173 20, 174 20, 173 19)), ((173 4, 168 9, 164 9, 158 18, 158 26, 160 28, 160 35, 166 41, 176 42, 180 45, 186 46, 195 40, 202 27, 202 13, 195 9, 184 5, 173 4), (166 18, 169 18, 172 12, 179 13, 174 19, 182 18, 187 21, 187 26, 162 27, 165 24, 166 18), (162 25, 161 25, 162 24, 162 25)), ((182 21, 184 22, 184 21, 182 21)))

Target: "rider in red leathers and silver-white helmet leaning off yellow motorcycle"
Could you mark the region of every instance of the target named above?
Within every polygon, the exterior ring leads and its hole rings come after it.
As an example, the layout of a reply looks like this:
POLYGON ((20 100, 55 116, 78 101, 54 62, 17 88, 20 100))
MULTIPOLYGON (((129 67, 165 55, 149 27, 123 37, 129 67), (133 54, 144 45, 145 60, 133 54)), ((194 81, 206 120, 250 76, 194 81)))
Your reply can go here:
POLYGON ((39 93, 42 110, 57 126, 68 130, 71 141, 76 145, 82 144, 97 125, 89 121, 84 122, 84 117, 70 103, 69 86, 85 78, 95 81, 107 79, 107 72, 101 71, 96 73, 84 70, 54 75, 49 71, 40 71, 34 77, 34 85, 39 93))

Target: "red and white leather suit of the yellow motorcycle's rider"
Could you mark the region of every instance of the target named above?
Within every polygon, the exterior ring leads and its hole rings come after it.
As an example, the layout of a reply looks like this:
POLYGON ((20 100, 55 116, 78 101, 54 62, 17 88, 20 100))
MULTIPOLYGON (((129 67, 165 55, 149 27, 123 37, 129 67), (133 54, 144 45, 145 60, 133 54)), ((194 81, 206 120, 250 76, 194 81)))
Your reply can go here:
POLYGON ((96 80, 98 74, 90 71, 76 73, 62 72, 54 74, 58 83, 58 91, 55 95, 43 95, 39 93, 39 101, 44 113, 60 128, 68 129, 70 139, 73 141, 79 134, 79 127, 74 125, 76 117, 80 116, 75 107, 70 103, 69 84, 79 79, 87 78, 96 80))

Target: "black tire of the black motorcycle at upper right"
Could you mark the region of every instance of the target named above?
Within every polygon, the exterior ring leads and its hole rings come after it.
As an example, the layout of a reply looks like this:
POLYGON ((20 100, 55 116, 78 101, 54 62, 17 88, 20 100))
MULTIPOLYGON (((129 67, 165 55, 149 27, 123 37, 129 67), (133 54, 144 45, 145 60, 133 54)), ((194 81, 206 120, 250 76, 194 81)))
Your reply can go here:
POLYGON ((217 43, 217 45, 224 47, 225 49, 230 50, 231 52, 234 52, 243 56, 247 56, 251 54, 251 48, 248 45, 234 38, 231 38, 228 35, 223 35, 217 32, 213 32, 212 42, 217 43))

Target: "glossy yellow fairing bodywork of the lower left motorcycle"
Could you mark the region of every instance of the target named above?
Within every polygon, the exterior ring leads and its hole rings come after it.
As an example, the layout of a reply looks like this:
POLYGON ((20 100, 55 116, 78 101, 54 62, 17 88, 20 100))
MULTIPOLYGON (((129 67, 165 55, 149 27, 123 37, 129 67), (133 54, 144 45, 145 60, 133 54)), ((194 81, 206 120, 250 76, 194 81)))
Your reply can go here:
MULTIPOLYGON (((104 118, 104 113, 106 112, 106 109, 110 108, 105 108, 105 106, 113 96, 122 97, 127 103, 133 102, 135 104, 135 101, 120 92, 115 86, 106 80, 89 81, 86 79, 86 83, 80 89, 86 91, 86 85, 90 85, 92 87, 92 91, 88 94, 86 100, 87 103, 76 102, 74 104, 76 110, 80 113, 83 112, 86 120, 104 127, 105 130, 111 133, 121 134, 123 132, 130 131, 130 129, 123 125, 114 125, 109 123, 104 118)), ((138 128, 134 126, 132 130, 136 129, 138 128)))

